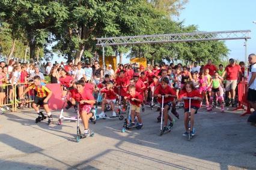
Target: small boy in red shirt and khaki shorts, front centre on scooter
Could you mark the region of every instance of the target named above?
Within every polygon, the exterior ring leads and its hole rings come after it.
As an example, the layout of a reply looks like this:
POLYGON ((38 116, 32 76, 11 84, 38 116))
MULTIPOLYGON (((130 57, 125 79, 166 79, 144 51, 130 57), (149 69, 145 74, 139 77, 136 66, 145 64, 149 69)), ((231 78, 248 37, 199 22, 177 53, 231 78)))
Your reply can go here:
POLYGON ((130 95, 125 96, 124 99, 129 98, 130 104, 132 105, 132 107, 130 108, 131 109, 130 117, 132 118, 132 122, 130 123, 129 128, 132 128, 132 126, 135 126, 134 117, 136 114, 136 116, 138 117, 138 120, 139 120, 139 126, 137 127, 137 129, 139 130, 139 129, 142 129, 142 127, 143 127, 142 122, 141 122, 141 116, 139 115, 143 98, 142 98, 141 94, 139 94, 138 92, 135 91, 135 89, 136 89, 135 86, 131 85, 129 87, 130 95))

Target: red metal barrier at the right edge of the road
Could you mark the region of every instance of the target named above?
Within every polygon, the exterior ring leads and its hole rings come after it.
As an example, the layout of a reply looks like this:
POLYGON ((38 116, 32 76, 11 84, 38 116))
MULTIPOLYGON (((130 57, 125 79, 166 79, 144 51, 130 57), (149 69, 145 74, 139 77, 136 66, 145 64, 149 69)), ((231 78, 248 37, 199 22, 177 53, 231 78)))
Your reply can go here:
POLYGON ((247 98, 247 92, 246 87, 248 86, 247 81, 239 81, 238 83, 238 107, 235 108, 233 111, 242 109, 243 111, 246 111, 245 113, 241 114, 240 116, 245 116, 246 114, 251 114, 251 105, 246 100, 247 98), (247 109, 245 109, 247 107, 247 109))

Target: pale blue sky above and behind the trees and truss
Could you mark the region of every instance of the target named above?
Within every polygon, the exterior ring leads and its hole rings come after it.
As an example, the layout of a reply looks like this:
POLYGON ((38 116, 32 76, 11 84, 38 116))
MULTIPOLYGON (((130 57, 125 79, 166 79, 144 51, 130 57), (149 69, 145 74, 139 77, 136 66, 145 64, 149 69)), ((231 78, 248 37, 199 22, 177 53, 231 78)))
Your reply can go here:
MULTIPOLYGON (((200 31, 237 31, 251 30, 251 39, 247 41, 247 56, 256 53, 256 0, 189 0, 179 20, 184 26, 198 25, 200 31)), ((225 44, 231 50, 229 56, 245 61, 245 40, 227 40, 225 44)), ((247 61, 246 56, 246 61, 247 61)), ((66 61, 55 56, 53 61, 66 61)), ((129 59, 123 57, 123 63, 129 59)))

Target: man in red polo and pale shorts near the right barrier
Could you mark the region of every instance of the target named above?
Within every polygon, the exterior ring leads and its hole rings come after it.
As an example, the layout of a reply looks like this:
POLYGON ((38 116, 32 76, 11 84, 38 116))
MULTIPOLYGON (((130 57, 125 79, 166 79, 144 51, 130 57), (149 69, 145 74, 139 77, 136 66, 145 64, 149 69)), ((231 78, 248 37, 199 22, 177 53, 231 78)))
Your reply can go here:
POLYGON ((230 65, 225 67, 225 71, 222 73, 221 77, 226 77, 226 95, 228 96, 227 105, 232 105, 234 107, 234 97, 236 96, 236 86, 237 80, 242 76, 242 71, 239 65, 236 64, 234 59, 230 60, 230 65))

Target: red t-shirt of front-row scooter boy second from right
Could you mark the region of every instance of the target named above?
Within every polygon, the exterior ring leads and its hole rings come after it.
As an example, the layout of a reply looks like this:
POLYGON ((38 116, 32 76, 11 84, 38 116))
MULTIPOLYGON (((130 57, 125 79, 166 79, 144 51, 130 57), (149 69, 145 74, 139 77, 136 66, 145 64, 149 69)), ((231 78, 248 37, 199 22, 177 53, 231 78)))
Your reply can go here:
MULTIPOLYGON (((154 90, 154 94, 156 95, 176 95, 175 91, 170 87, 170 86, 167 86, 165 89, 163 89, 163 87, 160 85, 160 86, 157 86, 156 87, 156 90, 154 90)), ((163 98, 163 103, 166 103, 166 102, 172 102, 174 98, 172 97, 168 97, 168 98, 163 98)), ((160 98, 157 98, 157 101, 162 104, 162 96, 160 98)))

